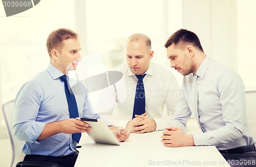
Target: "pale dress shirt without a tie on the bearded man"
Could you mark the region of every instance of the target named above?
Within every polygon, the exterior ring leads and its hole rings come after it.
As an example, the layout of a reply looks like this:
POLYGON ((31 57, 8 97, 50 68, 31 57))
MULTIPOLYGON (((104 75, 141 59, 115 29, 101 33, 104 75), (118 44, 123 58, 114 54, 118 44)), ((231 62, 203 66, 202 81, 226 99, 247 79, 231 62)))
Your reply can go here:
POLYGON ((247 125, 244 84, 235 71, 206 56, 195 76, 184 76, 181 92, 169 126, 184 130, 193 114, 204 132, 193 134, 196 146, 215 145, 226 150, 255 144, 247 125), (195 84, 198 84, 198 110, 195 84))

